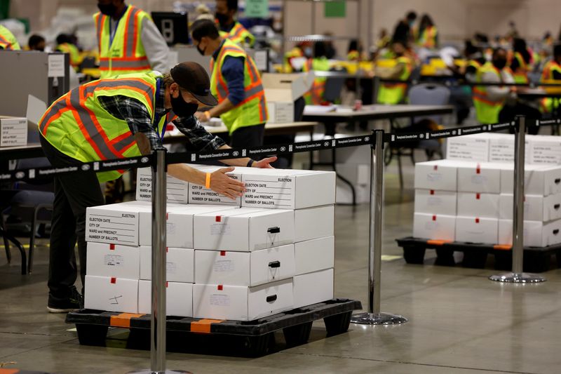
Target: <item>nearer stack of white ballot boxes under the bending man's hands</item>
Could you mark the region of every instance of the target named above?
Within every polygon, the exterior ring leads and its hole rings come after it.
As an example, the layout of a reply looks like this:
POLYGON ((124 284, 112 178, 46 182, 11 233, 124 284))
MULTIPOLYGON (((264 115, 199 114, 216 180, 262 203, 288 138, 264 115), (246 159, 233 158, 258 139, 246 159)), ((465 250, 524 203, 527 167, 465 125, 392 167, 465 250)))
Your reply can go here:
MULTIPOLYGON (((168 315, 248 321, 332 299, 334 173, 231 176, 247 187, 236 201, 168 178, 168 315)), ((139 169, 137 199, 150 189, 139 169)), ((88 208, 87 222, 86 308, 149 313, 151 203, 88 208)))

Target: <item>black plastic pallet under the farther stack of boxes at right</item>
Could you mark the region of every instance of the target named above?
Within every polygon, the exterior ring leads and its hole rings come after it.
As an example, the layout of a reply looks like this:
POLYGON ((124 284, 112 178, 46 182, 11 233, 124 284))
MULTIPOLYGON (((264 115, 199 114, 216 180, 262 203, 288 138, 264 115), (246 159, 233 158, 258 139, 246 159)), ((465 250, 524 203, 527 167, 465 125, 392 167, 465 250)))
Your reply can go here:
MULTIPOLYGON (((408 264, 423 264, 425 251, 436 250, 435 265, 455 266, 454 252, 464 253, 462 266, 482 269, 487 262, 487 255, 494 255, 495 269, 511 270, 512 248, 510 246, 464 243, 460 241, 438 241, 418 239, 407 236, 396 239, 403 248, 403 258, 408 264)), ((541 273, 550 269, 551 255, 555 255, 557 267, 561 267, 561 244, 547 247, 525 247, 525 272, 541 273)))

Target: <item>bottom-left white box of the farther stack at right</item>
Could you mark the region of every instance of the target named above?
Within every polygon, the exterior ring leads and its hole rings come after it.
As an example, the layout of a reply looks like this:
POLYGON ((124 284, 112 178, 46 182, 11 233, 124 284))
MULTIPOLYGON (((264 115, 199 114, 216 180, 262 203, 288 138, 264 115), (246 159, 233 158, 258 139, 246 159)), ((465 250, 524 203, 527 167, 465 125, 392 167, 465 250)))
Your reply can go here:
POLYGON ((414 213, 414 237, 431 240, 454 241, 455 234, 456 217, 454 215, 414 213))

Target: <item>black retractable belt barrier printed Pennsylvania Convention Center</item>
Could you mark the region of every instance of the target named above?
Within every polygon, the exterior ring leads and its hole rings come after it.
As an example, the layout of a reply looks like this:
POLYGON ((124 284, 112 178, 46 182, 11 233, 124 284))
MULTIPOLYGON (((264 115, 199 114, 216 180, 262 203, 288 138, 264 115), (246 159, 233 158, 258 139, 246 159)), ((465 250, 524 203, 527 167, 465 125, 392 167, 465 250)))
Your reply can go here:
MULTIPOLYGON (((384 142, 389 144, 400 142, 414 142, 419 140, 444 139, 457 136, 504 131, 515 128, 515 121, 492 123, 478 126, 464 126, 445 128, 435 131, 420 131, 416 133, 384 133, 384 142)), ((536 120, 538 126, 560 125, 561 119, 536 120)), ((340 139, 323 139, 311 142, 295 142, 283 145, 264 145, 248 148, 217 149, 212 152, 178 152, 168 153, 165 163, 198 163, 201 161, 218 161, 226 159, 240 159, 254 156, 271 156, 277 154, 294 154, 299 152, 321 151, 333 148, 358 147, 360 145, 374 145, 372 135, 350 136, 340 139)), ((154 156, 136 156, 126 159, 111 159, 81 163, 64 168, 27 168, 13 171, 0 171, 0 182, 39 180, 54 175, 83 172, 114 171, 131 168, 147 168, 154 164, 154 156)))

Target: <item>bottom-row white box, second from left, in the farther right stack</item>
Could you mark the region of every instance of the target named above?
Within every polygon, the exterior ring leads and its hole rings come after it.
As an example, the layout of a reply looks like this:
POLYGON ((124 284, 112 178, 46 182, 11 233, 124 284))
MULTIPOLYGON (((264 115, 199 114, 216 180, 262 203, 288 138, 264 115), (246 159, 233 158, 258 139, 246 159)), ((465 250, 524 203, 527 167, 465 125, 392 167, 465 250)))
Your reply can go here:
POLYGON ((456 218, 456 241, 496 244, 499 235, 498 218, 456 218))

